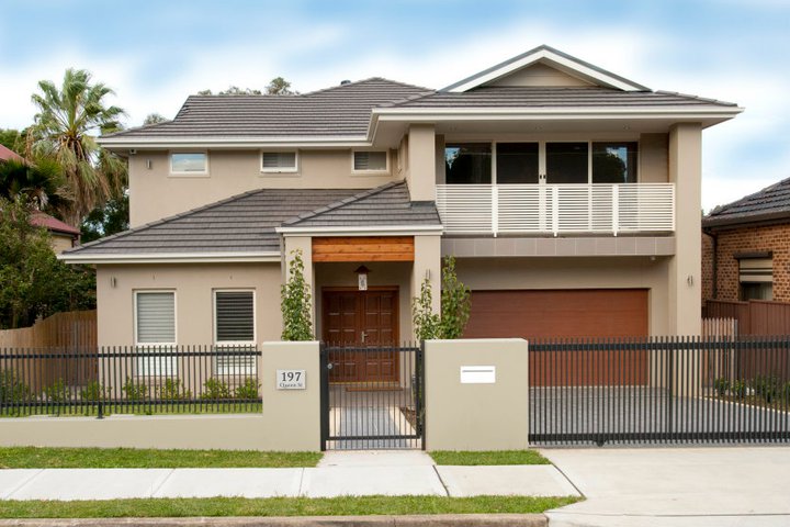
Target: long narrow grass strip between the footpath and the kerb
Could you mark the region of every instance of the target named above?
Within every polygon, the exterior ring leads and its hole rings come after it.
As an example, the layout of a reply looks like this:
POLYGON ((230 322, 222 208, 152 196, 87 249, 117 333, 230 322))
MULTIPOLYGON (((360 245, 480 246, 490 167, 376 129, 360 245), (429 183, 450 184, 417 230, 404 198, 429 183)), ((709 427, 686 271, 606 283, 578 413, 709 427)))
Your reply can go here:
POLYGON ((360 516, 403 514, 529 514, 579 501, 522 496, 343 496, 150 498, 92 502, 1 501, 2 518, 117 518, 187 516, 360 516))

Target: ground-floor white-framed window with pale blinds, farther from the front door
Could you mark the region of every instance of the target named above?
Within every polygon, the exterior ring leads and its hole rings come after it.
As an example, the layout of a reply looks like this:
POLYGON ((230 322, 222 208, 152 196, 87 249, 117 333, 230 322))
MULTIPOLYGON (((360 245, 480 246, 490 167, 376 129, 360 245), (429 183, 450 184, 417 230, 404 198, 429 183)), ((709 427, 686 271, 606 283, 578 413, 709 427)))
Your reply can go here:
POLYGON ((177 372, 176 357, 159 356, 176 350, 176 291, 134 292, 136 374, 170 377, 177 372))

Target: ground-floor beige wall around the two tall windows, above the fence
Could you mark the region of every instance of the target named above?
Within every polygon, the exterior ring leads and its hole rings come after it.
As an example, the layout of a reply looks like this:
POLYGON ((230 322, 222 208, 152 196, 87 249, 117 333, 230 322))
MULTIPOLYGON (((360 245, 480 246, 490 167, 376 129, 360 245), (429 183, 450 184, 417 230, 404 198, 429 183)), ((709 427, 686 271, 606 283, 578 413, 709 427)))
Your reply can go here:
POLYGON ((134 292, 176 291, 177 344, 214 343, 214 289, 256 291, 256 338, 280 338, 279 264, 137 265, 97 268, 99 346, 134 343, 134 292), (114 279, 114 285, 113 285, 114 279))

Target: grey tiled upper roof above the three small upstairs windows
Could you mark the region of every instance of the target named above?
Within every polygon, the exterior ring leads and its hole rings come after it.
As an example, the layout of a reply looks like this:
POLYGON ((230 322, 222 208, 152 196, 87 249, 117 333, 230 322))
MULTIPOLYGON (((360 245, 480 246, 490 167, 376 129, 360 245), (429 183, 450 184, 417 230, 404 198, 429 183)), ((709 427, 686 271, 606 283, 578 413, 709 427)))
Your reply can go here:
POLYGON ((104 137, 364 136, 372 108, 430 91, 376 77, 300 96, 191 96, 172 121, 104 137))

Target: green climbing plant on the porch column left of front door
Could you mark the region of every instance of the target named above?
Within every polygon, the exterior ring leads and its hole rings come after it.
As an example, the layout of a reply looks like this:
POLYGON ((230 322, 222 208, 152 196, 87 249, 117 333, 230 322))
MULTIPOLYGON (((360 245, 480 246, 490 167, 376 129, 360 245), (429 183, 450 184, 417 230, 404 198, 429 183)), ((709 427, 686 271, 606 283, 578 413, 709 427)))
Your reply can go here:
POLYGON ((283 315, 283 340, 313 340, 311 288, 304 278, 302 250, 291 251, 289 278, 280 291, 283 315))

